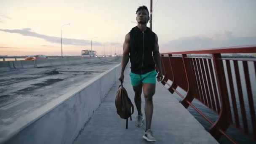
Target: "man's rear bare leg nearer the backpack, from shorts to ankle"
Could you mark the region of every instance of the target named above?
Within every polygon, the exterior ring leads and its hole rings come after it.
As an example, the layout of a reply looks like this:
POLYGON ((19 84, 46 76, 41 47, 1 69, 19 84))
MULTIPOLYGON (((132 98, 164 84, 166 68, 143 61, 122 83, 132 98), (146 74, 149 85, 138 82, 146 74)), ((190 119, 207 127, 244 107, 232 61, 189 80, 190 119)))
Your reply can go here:
POLYGON ((141 113, 142 84, 140 84, 138 86, 133 86, 133 91, 135 93, 134 102, 135 102, 136 108, 138 110, 138 115, 142 115, 142 113, 141 113))

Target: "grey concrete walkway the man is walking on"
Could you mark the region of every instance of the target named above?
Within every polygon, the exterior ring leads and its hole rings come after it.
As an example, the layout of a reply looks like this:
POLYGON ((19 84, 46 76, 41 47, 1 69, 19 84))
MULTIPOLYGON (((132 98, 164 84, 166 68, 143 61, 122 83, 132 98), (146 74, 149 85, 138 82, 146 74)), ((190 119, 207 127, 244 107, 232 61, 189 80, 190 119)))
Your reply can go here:
MULTIPOLYGON (((134 104, 134 92, 130 80, 130 68, 125 69, 124 88, 133 101, 134 114, 132 121, 117 115, 115 108, 115 94, 120 83, 115 83, 108 95, 94 112, 88 123, 77 136, 74 144, 148 144, 142 138, 145 120, 141 128, 135 126, 138 115, 134 104)), ((144 114, 144 98, 142 93, 142 113, 144 114)), ((159 82, 153 96, 154 112, 152 117, 152 131, 157 144, 216 144, 218 143, 203 126, 185 109, 178 100, 159 82)), ((145 115, 143 115, 145 119, 145 115)))

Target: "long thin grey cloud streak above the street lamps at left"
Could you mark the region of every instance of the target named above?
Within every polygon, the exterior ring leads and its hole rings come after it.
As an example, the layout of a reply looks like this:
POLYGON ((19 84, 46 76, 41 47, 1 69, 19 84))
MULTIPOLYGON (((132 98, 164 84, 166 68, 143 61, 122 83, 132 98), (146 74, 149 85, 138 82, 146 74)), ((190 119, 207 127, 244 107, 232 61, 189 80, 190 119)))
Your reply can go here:
MULTIPOLYGON (((9 32, 9 33, 17 33, 24 36, 30 36, 30 37, 37 37, 43 40, 46 40, 51 43, 61 43, 61 37, 53 37, 48 35, 39 34, 36 32, 32 32, 31 28, 24 28, 24 29, 0 29, 0 31, 3 32, 9 32)), ((72 38, 63 38, 62 37, 62 44, 63 45, 91 45, 91 40, 81 40, 81 39, 72 39, 72 38)), ((102 45, 99 42, 93 42, 93 45, 102 45)))

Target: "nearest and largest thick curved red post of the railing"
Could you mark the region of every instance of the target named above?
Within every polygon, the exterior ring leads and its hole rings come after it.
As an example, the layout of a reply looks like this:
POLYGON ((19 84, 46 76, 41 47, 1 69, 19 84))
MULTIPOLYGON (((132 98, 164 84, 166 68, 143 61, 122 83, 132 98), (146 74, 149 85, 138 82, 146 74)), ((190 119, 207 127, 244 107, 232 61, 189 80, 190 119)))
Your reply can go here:
POLYGON ((216 80, 219 90, 219 96, 221 99, 221 111, 218 120, 211 126, 209 132, 215 139, 220 139, 222 134, 218 129, 226 131, 231 123, 231 112, 229 104, 229 95, 227 92, 227 83, 225 78, 223 61, 221 60, 221 54, 213 54, 213 64, 216 74, 216 80))

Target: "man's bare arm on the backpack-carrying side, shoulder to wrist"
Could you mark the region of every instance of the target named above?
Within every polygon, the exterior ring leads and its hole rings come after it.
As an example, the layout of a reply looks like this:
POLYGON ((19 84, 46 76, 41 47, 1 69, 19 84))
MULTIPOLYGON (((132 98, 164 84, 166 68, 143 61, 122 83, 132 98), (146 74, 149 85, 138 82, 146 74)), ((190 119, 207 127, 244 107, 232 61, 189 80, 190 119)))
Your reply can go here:
POLYGON ((129 54, 130 54, 130 49, 129 49, 129 43, 130 43, 130 34, 125 35, 125 41, 123 43, 123 57, 122 57, 122 62, 121 62, 121 74, 124 73, 125 67, 129 61, 129 54))

